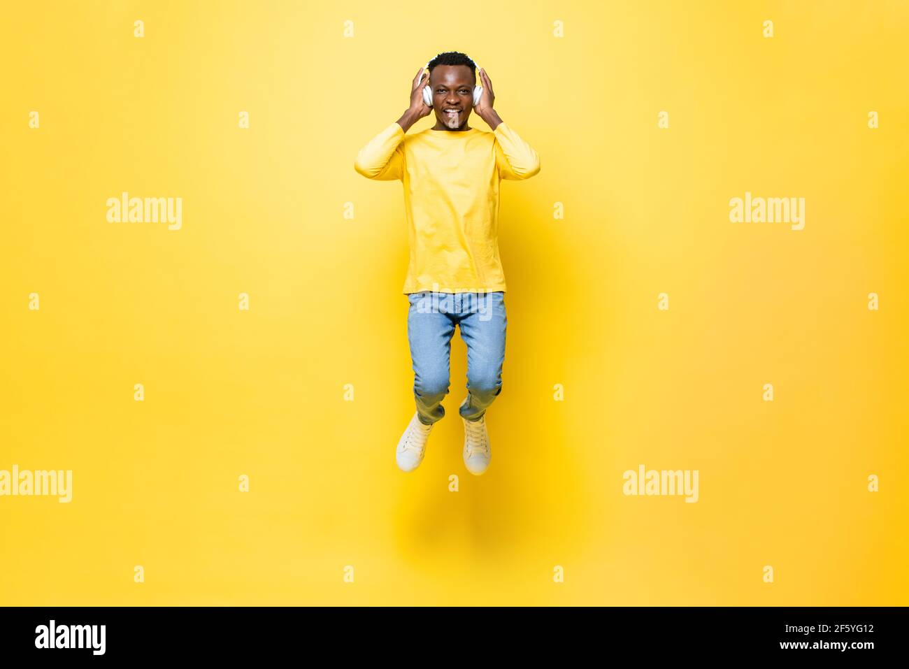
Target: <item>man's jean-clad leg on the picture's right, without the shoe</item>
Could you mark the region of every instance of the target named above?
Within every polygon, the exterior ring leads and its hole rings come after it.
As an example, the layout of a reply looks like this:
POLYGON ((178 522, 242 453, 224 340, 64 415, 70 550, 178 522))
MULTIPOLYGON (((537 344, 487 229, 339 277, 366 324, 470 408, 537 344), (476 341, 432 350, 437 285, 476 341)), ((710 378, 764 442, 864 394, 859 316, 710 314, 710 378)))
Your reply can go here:
POLYGON ((480 420, 502 392, 508 325, 503 292, 478 293, 474 298, 476 305, 460 321, 461 338, 467 344, 467 397, 459 411, 468 421, 480 420))

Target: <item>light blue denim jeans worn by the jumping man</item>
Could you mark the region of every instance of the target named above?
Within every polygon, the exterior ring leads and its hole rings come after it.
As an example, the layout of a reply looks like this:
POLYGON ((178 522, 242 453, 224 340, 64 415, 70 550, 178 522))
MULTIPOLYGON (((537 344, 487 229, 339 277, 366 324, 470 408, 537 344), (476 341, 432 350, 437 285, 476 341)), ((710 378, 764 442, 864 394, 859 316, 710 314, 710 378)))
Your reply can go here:
POLYGON ((433 424, 445 415, 454 326, 467 344, 467 396, 458 411, 469 421, 483 417, 502 392, 505 357, 504 293, 407 295, 407 339, 414 363, 414 397, 420 421, 433 424))

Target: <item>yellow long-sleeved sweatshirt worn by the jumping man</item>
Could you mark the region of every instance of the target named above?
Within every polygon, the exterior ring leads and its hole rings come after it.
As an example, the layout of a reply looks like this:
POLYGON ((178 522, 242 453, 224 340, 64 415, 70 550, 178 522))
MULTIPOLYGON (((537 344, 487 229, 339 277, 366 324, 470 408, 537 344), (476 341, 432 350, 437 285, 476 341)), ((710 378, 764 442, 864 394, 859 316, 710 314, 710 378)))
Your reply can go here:
POLYGON ((539 156, 511 126, 406 135, 393 123, 360 150, 354 167, 370 179, 404 182, 410 240, 405 293, 505 290, 499 184, 540 171, 539 156))

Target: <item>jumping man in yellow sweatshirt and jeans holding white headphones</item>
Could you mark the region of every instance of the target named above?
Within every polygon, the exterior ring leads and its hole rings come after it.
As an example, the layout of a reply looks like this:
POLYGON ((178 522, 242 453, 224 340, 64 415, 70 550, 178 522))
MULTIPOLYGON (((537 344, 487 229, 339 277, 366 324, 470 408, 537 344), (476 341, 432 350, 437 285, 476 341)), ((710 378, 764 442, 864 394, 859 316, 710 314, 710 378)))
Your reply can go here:
POLYGON ((464 465, 483 474, 491 458, 485 412, 502 391, 505 282, 498 249, 499 185, 540 171, 533 148, 493 109, 493 85, 459 52, 437 55, 411 85, 410 106, 356 156, 370 179, 400 179, 410 240, 404 292, 410 302, 407 337, 414 366, 416 413, 395 451, 405 472, 425 455, 433 424, 445 415, 454 327, 467 345, 464 465), (474 85, 483 93, 474 111, 492 129, 467 125, 474 85), (429 86, 432 105, 424 102, 429 86), (435 111, 435 125, 405 135, 435 111))

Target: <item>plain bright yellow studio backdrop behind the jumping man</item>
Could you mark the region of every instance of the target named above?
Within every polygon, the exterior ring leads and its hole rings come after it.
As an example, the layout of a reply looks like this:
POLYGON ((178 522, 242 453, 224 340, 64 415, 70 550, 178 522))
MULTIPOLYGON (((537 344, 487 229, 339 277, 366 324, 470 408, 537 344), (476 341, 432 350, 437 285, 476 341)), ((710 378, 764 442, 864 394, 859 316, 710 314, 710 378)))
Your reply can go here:
POLYGON ((22 2, 0 26, 0 469, 74 472, 71 504, 0 498, 0 603, 909 604, 906 3, 22 2), (353 166, 449 49, 542 164, 503 185, 479 478, 458 335, 425 462, 395 467, 402 190, 353 166), (123 191, 182 197, 183 229, 108 224, 123 191), (730 223, 745 191, 804 197, 804 230, 730 223), (624 496, 639 464, 699 470, 700 501, 624 496))

